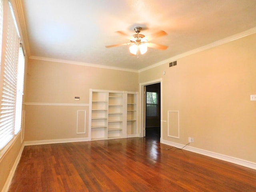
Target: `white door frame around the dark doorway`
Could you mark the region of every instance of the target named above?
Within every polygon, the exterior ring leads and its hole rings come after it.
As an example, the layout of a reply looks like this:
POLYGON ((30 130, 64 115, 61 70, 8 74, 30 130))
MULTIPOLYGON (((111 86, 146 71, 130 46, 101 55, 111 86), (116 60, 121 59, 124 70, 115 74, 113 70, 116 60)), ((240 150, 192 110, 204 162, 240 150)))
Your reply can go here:
POLYGON ((145 90, 146 90, 146 86, 147 85, 151 85, 151 84, 156 84, 156 83, 160 83, 160 133, 161 133, 161 138, 160 138, 160 142, 162 142, 162 114, 163 114, 163 105, 162 105, 162 78, 156 79, 156 80, 152 80, 152 81, 148 81, 148 82, 143 82, 139 84, 139 137, 144 137, 145 133, 146 133, 146 94, 145 94, 145 90))

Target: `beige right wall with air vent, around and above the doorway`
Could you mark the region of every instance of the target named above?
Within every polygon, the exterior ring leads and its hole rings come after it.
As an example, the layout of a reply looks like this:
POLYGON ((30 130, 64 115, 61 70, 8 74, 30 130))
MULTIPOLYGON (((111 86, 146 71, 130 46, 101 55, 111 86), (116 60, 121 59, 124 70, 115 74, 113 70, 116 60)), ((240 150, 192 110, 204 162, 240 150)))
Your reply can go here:
POLYGON ((163 120, 180 113, 180 138, 162 138, 256 162, 256 34, 216 46, 139 74, 139 82, 162 78, 163 120), (163 75, 162 72, 166 71, 163 75))

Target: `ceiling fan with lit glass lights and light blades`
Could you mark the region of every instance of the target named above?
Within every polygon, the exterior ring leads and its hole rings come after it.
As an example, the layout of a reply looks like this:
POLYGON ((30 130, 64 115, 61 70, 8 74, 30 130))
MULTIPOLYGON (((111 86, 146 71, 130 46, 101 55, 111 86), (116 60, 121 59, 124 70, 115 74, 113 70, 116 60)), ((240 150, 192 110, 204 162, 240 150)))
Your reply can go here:
MULTIPOLYGON (((137 55, 137 58, 139 58, 139 51, 140 51, 140 54, 144 54, 144 53, 147 52, 148 47, 154 48, 154 49, 159 49, 159 50, 166 50, 168 48, 168 46, 155 44, 155 43, 150 42, 150 40, 152 40, 153 38, 167 35, 166 32, 158 31, 154 34, 151 34, 150 36, 144 36, 143 34, 140 34, 140 30, 142 30, 141 27, 135 27, 134 28, 134 31, 136 32, 136 34, 133 34, 129 38, 130 43, 108 45, 108 46, 106 46, 106 48, 123 46, 123 45, 131 45, 130 48, 129 48, 130 53, 132 53, 134 55, 137 55)), ((119 33, 123 36, 128 36, 126 33, 122 32, 122 31, 117 31, 117 33, 119 33)))

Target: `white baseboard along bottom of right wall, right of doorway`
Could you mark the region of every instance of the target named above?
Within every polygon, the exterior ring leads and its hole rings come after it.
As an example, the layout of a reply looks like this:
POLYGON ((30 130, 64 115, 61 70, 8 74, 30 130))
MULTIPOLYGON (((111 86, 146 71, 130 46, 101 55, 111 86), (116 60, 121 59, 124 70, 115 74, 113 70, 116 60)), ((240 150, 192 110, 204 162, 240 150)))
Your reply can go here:
MULTIPOLYGON (((184 147, 184 145, 174 143, 174 142, 169 142, 169 141, 166 141, 166 140, 161 140, 161 143, 166 144, 166 145, 170 145, 170 146, 174 146, 174 147, 177 147, 177 148, 184 147)), ((199 149, 199 148, 195 148, 195 147, 191 147, 191 146, 186 146, 183 149, 187 150, 187 151, 194 152, 194 153, 202 154, 202 155, 205 155, 205 156, 209 156, 209 157, 212 157, 212 158, 224 160, 224 161, 227 161, 227 162, 230 162, 230 163, 245 166, 245 167, 248 167, 248 168, 252 168, 252 169, 256 170, 256 163, 254 163, 254 162, 250 162, 250 161, 242 160, 242 159, 239 159, 239 158, 218 154, 218 153, 215 153, 215 152, 211 152, 211 151, 207 151, 207 150, 203 150, 203 149, 199 149)))

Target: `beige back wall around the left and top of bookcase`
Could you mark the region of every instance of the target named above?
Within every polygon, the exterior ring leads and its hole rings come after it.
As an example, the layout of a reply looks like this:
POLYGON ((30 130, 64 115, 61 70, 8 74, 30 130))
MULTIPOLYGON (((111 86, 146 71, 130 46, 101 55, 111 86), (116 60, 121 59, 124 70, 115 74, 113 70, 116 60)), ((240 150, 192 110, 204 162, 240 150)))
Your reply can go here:
POLYGON ((90 88, 135 92, 138 73, 30 59, 25 141, 88 137, 89 106, 72 104, 89 104, 90 88), (86 134, 76 134, 77 110, 86 110, 86 134))

